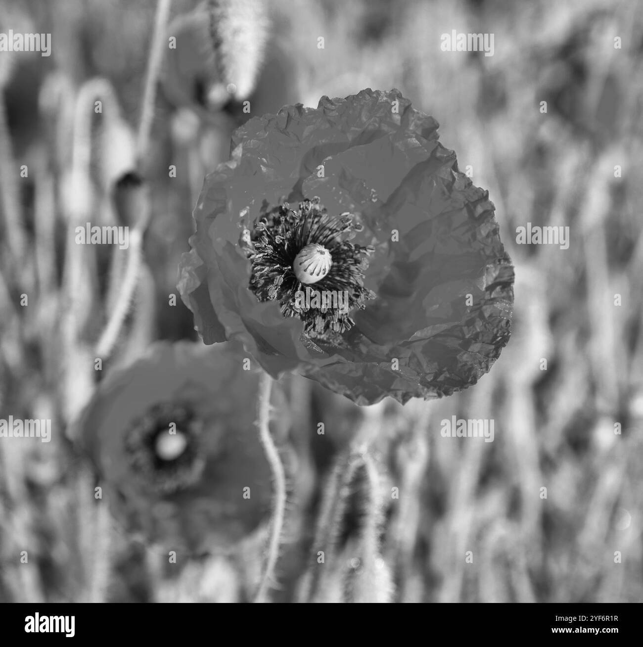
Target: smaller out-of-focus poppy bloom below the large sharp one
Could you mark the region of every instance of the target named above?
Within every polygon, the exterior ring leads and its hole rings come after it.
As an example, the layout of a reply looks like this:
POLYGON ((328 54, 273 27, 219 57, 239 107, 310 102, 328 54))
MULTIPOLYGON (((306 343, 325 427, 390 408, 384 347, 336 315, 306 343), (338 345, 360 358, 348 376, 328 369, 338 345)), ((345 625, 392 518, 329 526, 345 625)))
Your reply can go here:
POLYGON ((268 519, 258 375, 242 364, 228 347, 162 343, 100 385, 78 432, 127 531, 202 554, 268 519))

